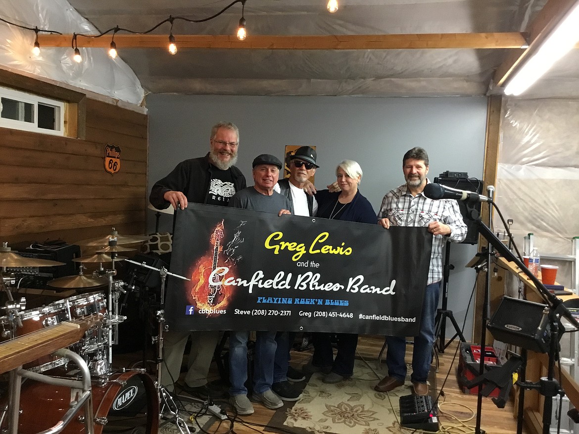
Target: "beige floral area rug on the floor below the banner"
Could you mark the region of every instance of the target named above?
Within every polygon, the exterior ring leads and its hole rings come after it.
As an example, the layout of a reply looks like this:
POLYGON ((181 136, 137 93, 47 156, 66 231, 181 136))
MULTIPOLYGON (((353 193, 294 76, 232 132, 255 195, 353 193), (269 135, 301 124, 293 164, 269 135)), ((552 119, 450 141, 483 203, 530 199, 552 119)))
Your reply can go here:
MULTIPOLYGON (((296 434, 387 434, 411 432, 398 422, 398 399, 411 393, 409 380, 404 387, 388 393, 376 392, 373 387, 384 376, 364 361, 356 360, 354 376, 339 384, 325 384, 323 375, 312 374, 303 389, 302 398, 286 403, 278 409, 266 431, 294 432, 296 434), (379 378, 380 377, 380 378, 379 378), (279 428, 279 429, 276 429, 279 428)), ((435 391, 435 376, 428 382, 435 391)))

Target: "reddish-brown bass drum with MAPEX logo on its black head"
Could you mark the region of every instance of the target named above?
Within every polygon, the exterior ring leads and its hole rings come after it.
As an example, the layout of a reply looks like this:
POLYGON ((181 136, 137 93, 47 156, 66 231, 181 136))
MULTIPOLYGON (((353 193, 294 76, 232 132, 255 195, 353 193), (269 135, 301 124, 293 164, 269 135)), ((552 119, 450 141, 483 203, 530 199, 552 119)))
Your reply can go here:
MULTIPOLYGON (((34 434, 55 426, 68 410, 71 389, 26 381, 20 393, 19 434, 34 434)), ((61 433, 86 434, 80 407, 61 433)), ((159 430, 159 400, 147 374, 127 371, 112 374, 104 385, 93 382, 94 434, 156 434, 159 430)))

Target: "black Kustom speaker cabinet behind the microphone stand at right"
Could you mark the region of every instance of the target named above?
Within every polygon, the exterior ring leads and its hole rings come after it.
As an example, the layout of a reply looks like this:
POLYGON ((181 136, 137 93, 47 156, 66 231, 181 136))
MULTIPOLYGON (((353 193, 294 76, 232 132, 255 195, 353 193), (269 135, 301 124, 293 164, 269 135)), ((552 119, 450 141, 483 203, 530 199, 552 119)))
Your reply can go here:
POLYGON ((534 352, 548 352, 551 337, 548 307, 503 297, 486 326, 494 339, 534 352))

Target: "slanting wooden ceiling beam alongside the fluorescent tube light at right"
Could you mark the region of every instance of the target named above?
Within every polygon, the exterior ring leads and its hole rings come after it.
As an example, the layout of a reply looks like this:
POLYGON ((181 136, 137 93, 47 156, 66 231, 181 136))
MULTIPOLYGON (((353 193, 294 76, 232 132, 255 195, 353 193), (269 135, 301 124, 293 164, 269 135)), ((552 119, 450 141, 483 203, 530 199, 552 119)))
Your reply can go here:
POLYGON ((545 41, 556 25, 577 3, 579 0, 548 0, 545 3, 543 9, 528 26, 528 47, 509 52, 495 71, 493 82, 496 86, 504 85, 505 81, 517 71, 525 59, 537 51, 538 46, 545 41))

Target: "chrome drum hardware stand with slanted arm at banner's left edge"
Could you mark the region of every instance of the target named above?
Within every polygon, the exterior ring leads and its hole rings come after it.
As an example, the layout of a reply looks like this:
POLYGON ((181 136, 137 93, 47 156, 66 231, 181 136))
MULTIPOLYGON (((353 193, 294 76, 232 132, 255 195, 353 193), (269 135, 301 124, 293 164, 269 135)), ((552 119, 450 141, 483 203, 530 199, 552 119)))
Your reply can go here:
POLYGON ((178 274, 169 273, 165 267, 157 269, 151 267, 147 264, 135 262, 130 259, 125 259, 125 262, 130 262, 131 264, 138 265, 151 270, 159 271, 161 277, 161 294, 160 294, 160 309, 157 311, 157 322, 159 323, 159 328, 157 329, 157 337, 153 339, 153 343, 157 344, 157 378, 155 380, 155 387, 157 388, 157 396, 159 398, 159 420, 161 420, 164 413, 168 413, 173 416, 175 420, 175 425, 179 429, 181 434, 190 434, 189 427, 185 424, 184 420, 179 416, 177 406, 171 397, 170 393, 166 388, 163 387, 161 382, 161 371, 163 368, 163 330, 168 330, 168 326, 164 325, 165 315, 164 315, 164 303, 165 303, 165 280, 167 275, 178 277, 179 279, 190 280, 178 274))

